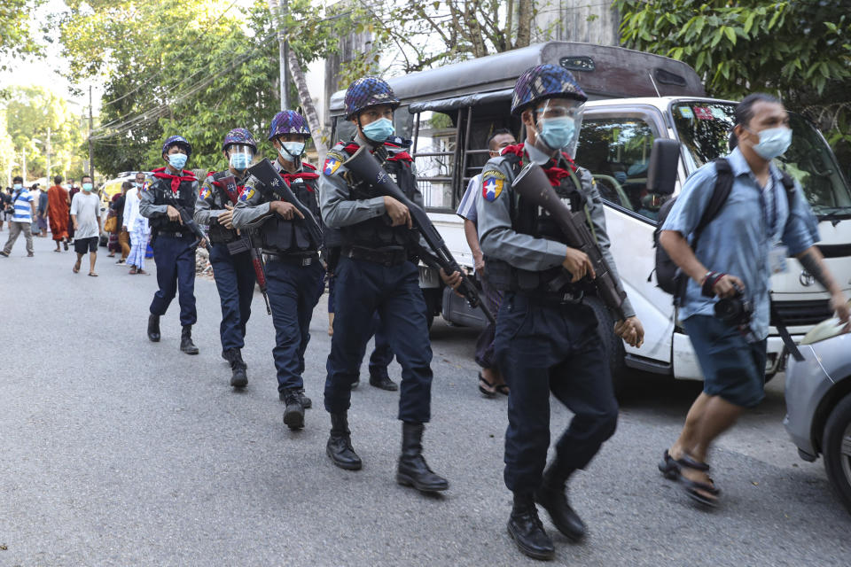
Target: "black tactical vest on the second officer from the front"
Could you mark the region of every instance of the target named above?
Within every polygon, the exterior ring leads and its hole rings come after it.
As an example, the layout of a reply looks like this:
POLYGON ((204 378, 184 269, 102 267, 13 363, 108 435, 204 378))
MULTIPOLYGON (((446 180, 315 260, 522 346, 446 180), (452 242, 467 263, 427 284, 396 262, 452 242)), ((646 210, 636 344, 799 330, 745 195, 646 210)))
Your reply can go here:
MULTIPOLYGON (((349 157, 354 155, 354 152, 349 153, 346 148, 342 148, 349 157)), ((417 177, 414 175, 410 167, 410 162, 402 160, 386 159, 386 149, 379 146, 373 154, 379 161, 382 162, 384 170, 390 174, 390 177, 405 194, 405 197, 414 199, 417 193, 417 177)), ((369 183, 360 179, 356 179, 351 172, 343 174, 348 183, 348 198, 349 200, 371 199, 383 197, 381 193, 376 191, 369 183)), ((340 239, 342 245, 363 246, 364 248, 407 248, 412 240, 416 239, 416 235, 411 233, 415 229, 409 229, 407 226, 394 227, 390 224, 390 217, 386 214, 374 217, 368 221, 357 222, 340 229, 340 239)))

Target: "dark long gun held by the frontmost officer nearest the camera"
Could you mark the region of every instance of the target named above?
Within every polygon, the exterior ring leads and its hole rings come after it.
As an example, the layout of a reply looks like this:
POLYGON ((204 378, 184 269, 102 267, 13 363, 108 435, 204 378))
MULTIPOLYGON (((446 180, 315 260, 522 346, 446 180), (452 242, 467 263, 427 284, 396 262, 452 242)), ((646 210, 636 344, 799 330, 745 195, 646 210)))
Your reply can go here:
MULTIPOLYGON (((603 257, 603 252, 600 251, 597 241, 591 235, 591 231, 585 223, 585 212, 577 211, 574 213, 568 209, 558 198, 556 191, 552 189, 547 174, 544 173, 541 166, 534 163, 523 168, 514 183, 511 183, 511 188, 520 197, 528 199, 530 203, 542 207, 552 215, 553 220, 558 223, 558 227, 567 237, 568 246, 588 254, 596 274, 594 285, 597 288, 598 296, 603 299, 606 307, 609 307, 618 319, 626 319, 623 312, 623 300, 626 299, 627 292, 621 288, 621 282, 613 275, 612 268, 609 268, 608 262, 603 257)), ((570 272, 564 270, 562 276, 550 283, 550 287, 559 288, 571 279, 570 272)), ((553 291, 557 291, 557 289, 553 291)))

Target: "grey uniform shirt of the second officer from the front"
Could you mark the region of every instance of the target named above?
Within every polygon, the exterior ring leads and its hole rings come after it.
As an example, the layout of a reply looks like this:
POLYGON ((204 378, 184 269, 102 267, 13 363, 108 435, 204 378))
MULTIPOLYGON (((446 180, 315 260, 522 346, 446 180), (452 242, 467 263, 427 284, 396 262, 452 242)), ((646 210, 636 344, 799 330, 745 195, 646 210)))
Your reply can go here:
MULTIPOLYGON (((360 136, 355 136, 355 144, 369 145, 360 136)), ((395 148, 387 148, 393 155, 395 148)), ((343 162, 348 159, 347 154, 342 151, 340 144, 334 146, 325 155, 325 163, 319 175, 319 208, 322 211, 322 220, 330 229, 340 229, 358 222, 369 221, 375 217, 386 214, 384 197, 373 197, 365 199, 349 199, 348 172, 343 162)), ((417 175, 414 164, 410 165, 411 173, 417 175)), ((414 191, 411 200, 418 206, 423 206, 423 194, 419 189, 414 191)), ((428 248, 426 240, 420 236, 419 245, 428 248)))

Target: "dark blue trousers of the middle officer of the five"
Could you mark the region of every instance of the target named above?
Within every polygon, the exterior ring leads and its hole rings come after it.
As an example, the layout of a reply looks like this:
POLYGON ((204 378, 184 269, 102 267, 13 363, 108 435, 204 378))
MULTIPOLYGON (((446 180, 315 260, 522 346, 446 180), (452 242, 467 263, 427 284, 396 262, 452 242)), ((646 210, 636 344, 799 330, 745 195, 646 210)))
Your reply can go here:
POLYGON ((303 388, 304 352, 310 341, 313 308, 324 291, 324 268, 319 260, 309 266, 281 260, 266 262, 266 294, 275 325, 272 356, 277 369, 277 390, 303 388))

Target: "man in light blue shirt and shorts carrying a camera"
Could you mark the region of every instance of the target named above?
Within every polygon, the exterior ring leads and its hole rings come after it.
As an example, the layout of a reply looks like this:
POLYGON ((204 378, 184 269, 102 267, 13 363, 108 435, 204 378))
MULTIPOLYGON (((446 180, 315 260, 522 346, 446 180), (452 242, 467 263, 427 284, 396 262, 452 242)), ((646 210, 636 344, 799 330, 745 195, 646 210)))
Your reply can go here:
POLYGON ((707 472, 709 447, 746 408, 765 397, 769 277, 785 271, 786 256, 831 293, 831 306, 848 322, 847 298, 816 248, 818 231, 800 186, 786 198, 783 175, 771 160, 792 142, 789 116, 777 98, 755 93, 736 108, 728 156, 730 196, 703 231, 695 250, 691 238, 707 208, 717 178, 714 163, 691 175, 662 225, 660 244, 689 277, 679 310, 704 375, 704 389, 683 431, 665 452, 660 470, 678 478, 686 493, 715 505, 720 491, 707 472), (753 313, 735 321, 716 314, 719 299, 743 299, 753 313))

